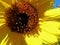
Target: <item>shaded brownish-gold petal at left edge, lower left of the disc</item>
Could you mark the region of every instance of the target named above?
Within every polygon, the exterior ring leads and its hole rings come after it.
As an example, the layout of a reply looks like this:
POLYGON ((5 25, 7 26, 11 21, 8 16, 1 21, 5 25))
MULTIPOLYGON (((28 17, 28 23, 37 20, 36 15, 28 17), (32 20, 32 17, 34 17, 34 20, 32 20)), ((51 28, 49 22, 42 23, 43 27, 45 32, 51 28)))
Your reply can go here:
POLYGON ((0 26, 0 43, 6 37, 9 30, 7 29, 6 25, 0 26))

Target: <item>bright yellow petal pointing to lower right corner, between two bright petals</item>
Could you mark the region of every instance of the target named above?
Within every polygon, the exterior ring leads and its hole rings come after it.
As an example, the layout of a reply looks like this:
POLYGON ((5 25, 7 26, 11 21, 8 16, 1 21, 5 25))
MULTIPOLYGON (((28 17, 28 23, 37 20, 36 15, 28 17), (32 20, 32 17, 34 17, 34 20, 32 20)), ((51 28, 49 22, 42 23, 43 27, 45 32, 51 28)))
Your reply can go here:
POLYGON ((55 35, 52 35, 50 33, 47 33, 45 31, 42 30, 42 32, 40 32, 40 38, 44 41, 47 42, 47 44, 53 44, 57 42, 57 37, 55 35))

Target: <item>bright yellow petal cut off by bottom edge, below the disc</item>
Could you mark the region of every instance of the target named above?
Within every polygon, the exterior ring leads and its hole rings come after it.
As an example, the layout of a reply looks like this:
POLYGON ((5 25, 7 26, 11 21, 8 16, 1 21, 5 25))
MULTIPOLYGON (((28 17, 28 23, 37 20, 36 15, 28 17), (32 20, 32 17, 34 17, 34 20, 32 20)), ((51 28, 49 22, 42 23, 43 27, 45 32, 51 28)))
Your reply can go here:
POLYGON ((27 45, 42 45, 42 40, 39 37, 26 36, 25 41, 27 42, 27 45))

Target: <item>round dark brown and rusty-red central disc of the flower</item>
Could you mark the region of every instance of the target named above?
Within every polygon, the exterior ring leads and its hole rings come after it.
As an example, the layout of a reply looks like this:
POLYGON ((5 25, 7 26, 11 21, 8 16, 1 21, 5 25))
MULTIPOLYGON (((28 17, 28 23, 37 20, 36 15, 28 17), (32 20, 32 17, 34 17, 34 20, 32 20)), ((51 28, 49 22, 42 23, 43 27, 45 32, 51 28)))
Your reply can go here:
POLYGON ((32 31, 38 24, 36 9, 27 2, 18 2, 5 11, 6 25, 12 32, 26 33, 32 31))

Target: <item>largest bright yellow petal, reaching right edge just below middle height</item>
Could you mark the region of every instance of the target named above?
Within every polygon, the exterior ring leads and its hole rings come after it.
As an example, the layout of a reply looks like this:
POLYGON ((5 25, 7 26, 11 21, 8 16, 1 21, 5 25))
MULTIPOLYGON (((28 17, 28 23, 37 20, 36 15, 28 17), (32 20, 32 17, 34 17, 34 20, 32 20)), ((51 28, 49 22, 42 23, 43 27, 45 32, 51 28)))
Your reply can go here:
POLYGON ((43 22, 40 27, 43 31, 47 31, 55 35, 60 35, 60 22, 46 21, 43 22))

